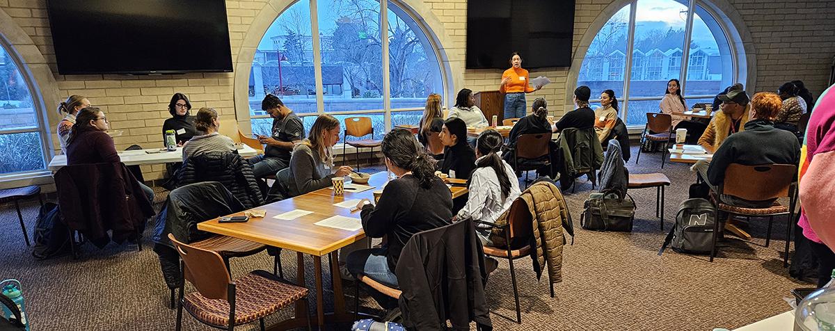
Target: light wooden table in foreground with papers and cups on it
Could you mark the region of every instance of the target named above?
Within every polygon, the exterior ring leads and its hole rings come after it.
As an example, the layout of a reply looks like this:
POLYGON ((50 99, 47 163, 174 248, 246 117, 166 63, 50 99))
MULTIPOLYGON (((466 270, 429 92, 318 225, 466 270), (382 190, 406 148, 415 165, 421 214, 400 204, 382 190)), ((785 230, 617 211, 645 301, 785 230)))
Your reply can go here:
MULTIPOLYGON (((387 173, 375 173, 368 181, 368 185, 374 188, 360 193, 345 191, 343 195, 334 195, 331 188, 303 194, 295 198, 288 198, 270 203, 254 209, 266 209, 264 218, 252 218, 246 223, 218 223, 217 218, 197 224, 197 228, 210 233, 223 234, 234 238, 250 240, 256 243, 286 248, 298 252, 296 254, 298 270, 296 271, 296 283, 305 286, 305 267, 303 254, 313 256, 313 267, 316 277, 316 320, 313 323, 323 325, 329 323, 344 323, 353 320, 354 315, 347 313, 345 308, 345 296, 342 293, 342 277, 339 272, 339 248, 365 238, 362 228, 357 231, 347 231, 339 228, 327 228, 316 225, 325 218, 335 215, 342 215, 351 218, 360 218, 359 212, 351 213, 348 208, 334 206, 334 203, 341 203, 351 199, 367 198, 374 201, 373 192, 382 188, 387 183, 387 173), (296 209, 303 209, 313 213, 307 214, 291 221, 273 218, 277 214, 286 213, 296 209), (331 261, 331 275, 333 275, 334 313, 325 314, 321 273, 321 257, 329 255, 331 261)), ((452 187, 453 198, 458 198, 468 193, 467 188, 452 187)), ((233 213, 229 216, 243 215, 243 212, 233 213)), ((303 310, 301 303, 296 303, 296 315, 294 318, 279 323, 273 329, 302 328, 307 323, 307 312, 303 310)))

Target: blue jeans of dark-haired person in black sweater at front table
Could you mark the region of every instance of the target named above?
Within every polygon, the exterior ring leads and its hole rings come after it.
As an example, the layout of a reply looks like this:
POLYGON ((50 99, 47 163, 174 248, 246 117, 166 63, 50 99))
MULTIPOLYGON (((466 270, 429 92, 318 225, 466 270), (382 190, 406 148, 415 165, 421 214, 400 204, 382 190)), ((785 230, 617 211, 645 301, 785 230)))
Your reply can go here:
MULTIPOLYGON (((390 288, 398 288, 397 275, 394 274, 394 270, 388 268, 386 251, 386 248, 371 248, 354 251, 348 254, 348 271, 355 276, 357 274, 362 274, 367 278, 372 278, 378 283, 382 283, 390 288)), ((382 308, 388 309, 397 306, 396 299, 391 298, 386 294, 377 292, 373 288, 369 288, 368 294, 377 300, 377 303, 380 303, 382 308)))

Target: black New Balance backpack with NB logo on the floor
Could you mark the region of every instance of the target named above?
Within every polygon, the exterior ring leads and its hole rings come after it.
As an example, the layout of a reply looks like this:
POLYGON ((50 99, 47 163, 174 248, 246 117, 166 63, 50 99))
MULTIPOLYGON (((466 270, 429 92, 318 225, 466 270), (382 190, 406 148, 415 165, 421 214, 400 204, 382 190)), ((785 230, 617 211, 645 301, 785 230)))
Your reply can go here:
POLYGON ((658 255, 664 253, 668 245, 678 253, 711 253, 715 223, 716 214, 711 202, 703 198, 682 201, 676 213, 676 224, 667 233, 658 255))

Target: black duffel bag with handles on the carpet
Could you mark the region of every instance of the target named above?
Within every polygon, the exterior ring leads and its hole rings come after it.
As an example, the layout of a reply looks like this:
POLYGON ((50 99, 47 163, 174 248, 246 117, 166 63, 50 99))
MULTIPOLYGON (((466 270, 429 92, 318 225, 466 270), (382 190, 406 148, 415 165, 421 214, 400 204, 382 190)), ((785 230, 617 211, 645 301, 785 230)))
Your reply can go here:
POLYGON ((591 193, 585 200, 580 226, 595 231, 632 232, 635 219, 635 200, 626 194, 620 198, 615 193, 591 193))

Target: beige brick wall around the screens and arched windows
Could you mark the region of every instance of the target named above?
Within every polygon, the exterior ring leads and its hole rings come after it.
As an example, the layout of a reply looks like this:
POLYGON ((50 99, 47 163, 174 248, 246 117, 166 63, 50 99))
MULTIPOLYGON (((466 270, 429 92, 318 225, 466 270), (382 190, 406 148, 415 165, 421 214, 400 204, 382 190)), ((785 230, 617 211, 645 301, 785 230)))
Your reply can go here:
MULTIPOLYGON (((304 1, 304 0, 302 0, 304 1)), ((781 83, 801 78, 813 93, 825 88, 829 63, 835 55, 835 1, 797 0, 791 3, 770 0, 721 0, 731 3, 751 31, 753 47, 757 50, 757 90, 773 91, 781 83)), ((408 0, 416 6, 430 8, 443 23, 446 35, 441 37, 453 73, 463 72, 463 85, 454 89, 475 91, 498 88, 501 70, 465 70, 466 0, 408 0)), ((613 0, 577 0, 574 18, 574 48, 577 48, 586 29, 600 11, 613 0)), ((617 0, 623 3, 622 0, 617 0)), ((241 52, 245 34, 262 10, 266 0, 227 0, 233 62, 241 52)), ((235 73, 189 73, 184 75, 124 76, 124 75, 58 75, 48 26, 45 0, 0 0, 0 9, 13 18, 32 38, 38 51, 47 59, 58 83, 60 96, 83 94, 96 106, 104 108, 111 127, 125 130, 115 138, 117 148, 139 143, 144 147, 161 145, 160 128, 164 118, 170 117, 166 105, 175 92, 187 93, 194 108, 209 106, 217 109, 221 119, 235 119, 233 83, 235 73)), ((258 33, 263 33, 260 31, 258 33)), ((79 49, 84 49, 83 39, 79 49)), ((26 50, 18 49, 18 52, 26 50)), ((89 50, 94 52, 94 50, 89 50)), ((553 83, 532 93, 529 98, 542 96, 553 105, 552 112, 563 113, 566 91, 574 87, 567 82, 569 68, 534 71, 553 83)), ((54 112, 48 105, 48 111, 54 112)), ((247 110, 242 109, 241 112, 247 110)), ((58 118, 50 115, 50 127, 58 118)), ((52 129, 50 131, 53 131, 52 129)), ((53 139, 57 148, 57 139, 53 139)), ((160 178, 163 166, 145 167, 146 178, 160 178)))

